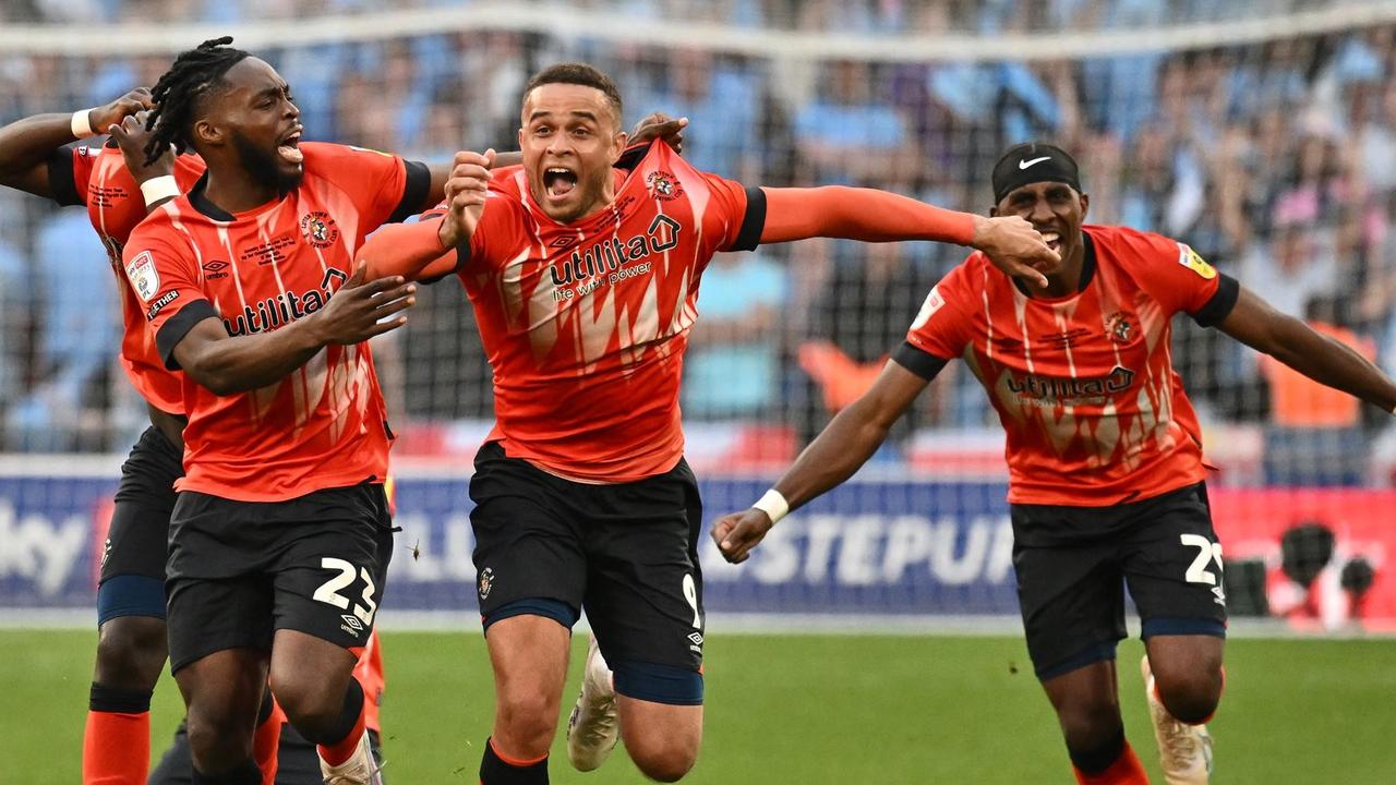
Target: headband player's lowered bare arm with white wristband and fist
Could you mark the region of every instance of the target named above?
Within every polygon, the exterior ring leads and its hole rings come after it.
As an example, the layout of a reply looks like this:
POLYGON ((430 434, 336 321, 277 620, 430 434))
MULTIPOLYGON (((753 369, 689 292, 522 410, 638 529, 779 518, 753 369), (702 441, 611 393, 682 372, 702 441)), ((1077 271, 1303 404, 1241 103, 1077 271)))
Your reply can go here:
MULTIPOLYGON (((824 432, 800 453, 772 492, 793 510, 853 476, 928 383, 930 379, 912 373, 896 360, 888 360, 872 387, 835 415, 824 432)), ((747 560, 751 549, 773 525, 768 511, 751 507, 718 518, 712 527, 712 539, 723 557, 736 564, 747 560)))

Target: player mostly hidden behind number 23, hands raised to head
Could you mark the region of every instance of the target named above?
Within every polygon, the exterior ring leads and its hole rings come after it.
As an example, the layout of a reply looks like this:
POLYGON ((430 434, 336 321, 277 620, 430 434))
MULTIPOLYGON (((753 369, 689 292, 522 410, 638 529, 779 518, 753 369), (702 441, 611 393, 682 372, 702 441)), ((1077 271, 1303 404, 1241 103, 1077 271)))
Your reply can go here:
MULTIPOLYGON (((126 321, 121 366, 147 401, 151 418, 151 427, 121 467, 101 563, 99 644, 82 751, 82 782, 92 785, 147 782, 149 700, 166 658, 166 538, 174 482, 184 474, 181 381, 177 372, 163 367, 148 338, 144 309, 126 284, 120 254, 147 210, 191 187, 204 173, 204 162, 197 155, 176 158, 170 154, 147 162, 140 148, 147 140, 144 115, 148 106, 149 91, 141 88, 99 108, 73 115, 38 115, 0 129, 0 183, 61 205, 88 208, 121 292, 126 321), (70 147, 74 140, 102 131, 113 133, 106 144, 70 147)), ((377 652, 374 643, 376 638, 370 638, 371 651, 377 652)), ((381 690, 381 658, 364 658, 356 676, 381 690)), ((265 784, 271 785, 276 775, 281 719, 269 721, 269 696, 261 715, 268 721, 258 725, 257 758, 265 784)), ((377 712, 371 711, 369 719, 370 728, 377 731, 377 712)), ((290 758, 282 761, 289 764, 283 767, 289 772, 282 772, 282 782, 296 782, 288 774, 306 770, 304 753, 295 742, 290 738, 285 744, 290 758)), ((184 760, 187 767, 187 754, 184 760)), ((315 777, 300 782, 320 782, 313 749, 309 765, 315 777)))

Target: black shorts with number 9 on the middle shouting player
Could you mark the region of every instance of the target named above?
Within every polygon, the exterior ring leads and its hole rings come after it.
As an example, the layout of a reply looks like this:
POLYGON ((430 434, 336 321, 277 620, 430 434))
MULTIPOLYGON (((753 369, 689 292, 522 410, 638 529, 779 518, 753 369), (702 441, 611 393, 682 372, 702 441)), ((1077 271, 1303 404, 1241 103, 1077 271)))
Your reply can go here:
POLYGON ((586 610, 617 672, 627 665, 699 672, 702 503, 687 462, 638 482, 588 485, 490 443, 475 458, 470 499, 486 629, 529 612, 530 601, 560 602, 571 622, 586 610))

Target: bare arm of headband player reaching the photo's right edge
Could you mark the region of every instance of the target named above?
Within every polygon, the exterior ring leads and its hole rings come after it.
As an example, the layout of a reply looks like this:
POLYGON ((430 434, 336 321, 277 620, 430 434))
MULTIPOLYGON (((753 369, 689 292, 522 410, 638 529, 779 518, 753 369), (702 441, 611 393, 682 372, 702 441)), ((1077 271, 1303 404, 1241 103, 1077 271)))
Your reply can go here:
POLYGON ((1302 320, 1280 313, 1247 288, 1217 325, 1319 384, 1342 390, 1396 412, 1396 383, 1340 341, 1321 335, 1302 320))

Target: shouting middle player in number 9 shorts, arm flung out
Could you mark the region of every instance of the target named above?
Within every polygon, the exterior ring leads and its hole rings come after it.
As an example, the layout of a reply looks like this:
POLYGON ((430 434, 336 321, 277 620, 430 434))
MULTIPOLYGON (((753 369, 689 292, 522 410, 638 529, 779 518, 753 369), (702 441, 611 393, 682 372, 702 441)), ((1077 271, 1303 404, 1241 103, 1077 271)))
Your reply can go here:
POLYGON ((521 169, 491 189, 493 154, 458 154, 444 218, 360 251, 374 275, 459 272, 494 370, 497 423, 470 479, 497 687, 480 781, 547 782, 584 608, 631 758, 677 781, 702 735, 701 501, 678 380, 708 261, 819 235, 973 244, 1015 268, 1055 253, 1019 218, 863 189, 744 189, 667 145, 616 172, 621 96, 589 66, 535 75, 521 119, 521 169))

